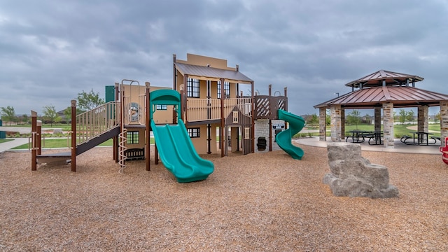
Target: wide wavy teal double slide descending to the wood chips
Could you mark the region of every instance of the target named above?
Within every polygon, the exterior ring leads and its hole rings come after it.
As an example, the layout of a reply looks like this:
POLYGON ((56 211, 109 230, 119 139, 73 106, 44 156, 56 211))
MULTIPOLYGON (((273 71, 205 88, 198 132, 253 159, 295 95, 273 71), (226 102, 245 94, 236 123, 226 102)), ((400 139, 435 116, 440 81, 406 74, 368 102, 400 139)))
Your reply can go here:
POLYGON ((177 125, 156 126, 151 120, 160 159, 180 183, 207 179, 214 164, 197 155, 183 121, 178 121, 177 125))

